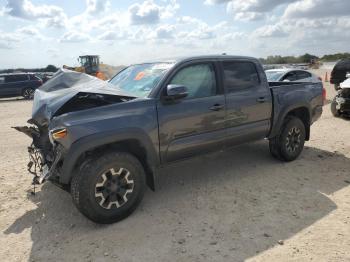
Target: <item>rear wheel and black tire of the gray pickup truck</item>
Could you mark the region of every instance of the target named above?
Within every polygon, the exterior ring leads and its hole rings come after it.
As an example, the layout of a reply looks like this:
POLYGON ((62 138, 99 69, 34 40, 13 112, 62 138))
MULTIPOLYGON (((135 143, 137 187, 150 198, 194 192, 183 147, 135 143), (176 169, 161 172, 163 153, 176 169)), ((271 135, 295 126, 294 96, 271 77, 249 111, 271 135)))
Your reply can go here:
POLYGON ((297 117, 287 116, 279 135, 269 141, 272 156, 282 161, 293 161, 303 151, 305 126, 297 117))

